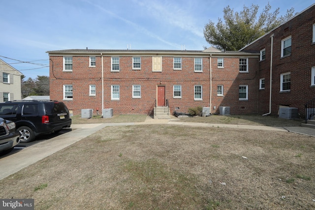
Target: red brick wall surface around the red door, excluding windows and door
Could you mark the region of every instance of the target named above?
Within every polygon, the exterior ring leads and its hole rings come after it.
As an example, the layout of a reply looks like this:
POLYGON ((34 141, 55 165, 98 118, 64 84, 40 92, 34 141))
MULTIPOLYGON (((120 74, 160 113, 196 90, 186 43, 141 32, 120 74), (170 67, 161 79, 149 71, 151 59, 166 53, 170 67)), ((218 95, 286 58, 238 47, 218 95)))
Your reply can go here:
MULTIPOLYGON (((75 51, 75 50, 74 50, 75 51)), ((51 51, 50 53, 50 98, 63 101, 73 115, 80 115, 81 109, 93 109, 94 114, 102 110, 102 68, 101 56, 95 54, 76 55, 77 52, 51 51), (71 72, 63 71, 63 56, 72 56, 71 72), (95 67, 89 67, 89 56, 96 57, 95 67), (63 98, 63 85, 73 86, 72 100, 63 98), (96 86, 95 96, 89 95, 89 86, 96 86)), ((132 51, 129 51, 132 53, 132 51)), ((126 52, 107 52, 103 55, 104 109, 113 108, 114 114, 152 114, 157 99, 157 87, 165 86, 165 97, 173 113, 188 112, 190 107, 209 107, 210 103, 210 58, 209 54, 190 55, 177 51, 174 55, 162 55, 162 71, 152 71, 152 56, 140 51, 128 55, 126 52), (120 57, 120 71, 111 71, 111 56, 120 57), (132 70, 132 57, 141 57, 141 70, 132 70), (173 58, 182 58, 182 69, 174 70, 173 58), (202 72, 194 72, 194 58, 202 57, 202 72), (120 86, 120 99, 111 99, 111 86, 120 86), (141 85, 141 98, 132 98, 132 85, 141 85), (173 86, 182 86, 182 97, 173 97, 173 86), (194 86, 202 86, 202 100, 194 100, 194 86)), ((224 57, 224 53, 221 57, 224 57)), ((245 54, 244 54, 245 55, 245 54)), ((242 53, 229 54, 224 58, 224 68, 217 67, 217 58, 212 61, 212 107, 211 113, 219 113, 220 106, 230 106, 231 114, 257 113, 257 54, 246 57, 242 53), (239 59, 248 58, 249 72, 239 72, 239 59), (217 96, 217 85, 223 85, 223 96, 217 96), (248 85, 248 100, 239 100, 239 85, 248 85), (216 109, 214 109, 216 106, 216 109)))

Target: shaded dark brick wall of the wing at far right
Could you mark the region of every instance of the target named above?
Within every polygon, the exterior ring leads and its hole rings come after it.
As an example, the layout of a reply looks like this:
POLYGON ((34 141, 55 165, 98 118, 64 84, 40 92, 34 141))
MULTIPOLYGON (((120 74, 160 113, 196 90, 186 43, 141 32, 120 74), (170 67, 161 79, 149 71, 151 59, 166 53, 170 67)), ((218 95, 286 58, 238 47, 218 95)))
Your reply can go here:
POLYGON ((315 5, 307 8, 280 27, 265 34, 243 52, 266 50, 266 59, 259 61, 259 78, 265 78, 265 90, 258 91, 258 110, 260 114, 269 112, 271 35, 273 36, 272 62, 272 114, 277 115, 279 106, 297 107, 304 116, 304 104, 315 97, 315 86, 311 85, 312 66, 315 65, 315 5), (282 40, 291 36, 291 54, 282 57, 282 40), (290 72, 289 91, 280 90, 281 74, 290 72))

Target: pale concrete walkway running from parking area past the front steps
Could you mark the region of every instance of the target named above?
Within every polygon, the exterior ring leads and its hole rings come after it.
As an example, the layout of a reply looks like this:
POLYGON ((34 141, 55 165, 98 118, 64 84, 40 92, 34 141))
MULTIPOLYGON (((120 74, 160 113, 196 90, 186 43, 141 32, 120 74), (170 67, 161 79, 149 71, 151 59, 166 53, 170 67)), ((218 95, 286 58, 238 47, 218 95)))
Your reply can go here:
POLYGON ((271 131, 289 131, 304 135, 314 136, 315 129, 307 127, 270 127, 257 125, 235 125, 235 124, 216 124, 216 123, 196 123, 196 122, 181 122, 176 118, 168 119, 152 119, 147 117, 144 122, 126 122, 126 123, 98 123, 98 124, 72 124, 72 131, 56 136, 46 141, 39 142, 19 150, 16 153, 0 157, 0 180, 14 174, 23 168, 59 151, 71 144, 74 144, 81 139, 95 133, 96 131, 106 126, 124 126, 124 125, 142 125, 142 124, 173 124, 173 125, 189 125, 203 127, 230 127, 240 129, 256 129, 256 130, 271 130, 271 131))

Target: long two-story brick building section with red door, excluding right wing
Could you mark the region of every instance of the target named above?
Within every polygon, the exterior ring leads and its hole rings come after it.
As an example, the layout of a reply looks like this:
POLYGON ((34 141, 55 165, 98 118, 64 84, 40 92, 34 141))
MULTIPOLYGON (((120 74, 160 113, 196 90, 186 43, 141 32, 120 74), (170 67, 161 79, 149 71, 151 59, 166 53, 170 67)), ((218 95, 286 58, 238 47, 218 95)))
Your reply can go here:
POLYGON ((257 113, 259 53, 161 50, 49 51, 50 98, 63 101, 73 115, 170 113, 189 107, 230 107, 232 114, 257 113), (211 73, 210 73, 211 72, 211 73), (210 88, 211 84, 211 88, 210 88), (211 104, 211 105, 210 105, 211 104))

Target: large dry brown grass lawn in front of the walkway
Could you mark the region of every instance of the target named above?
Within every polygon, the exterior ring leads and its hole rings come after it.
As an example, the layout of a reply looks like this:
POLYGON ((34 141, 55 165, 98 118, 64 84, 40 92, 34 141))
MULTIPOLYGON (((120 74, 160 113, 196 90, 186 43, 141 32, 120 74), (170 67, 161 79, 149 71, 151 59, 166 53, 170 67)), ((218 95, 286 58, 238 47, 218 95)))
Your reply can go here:
POLYGON ((314 154, 315 137, 282 131, 112 126, 0 180, 0 197, 36 210, 315 209, 314 154))

